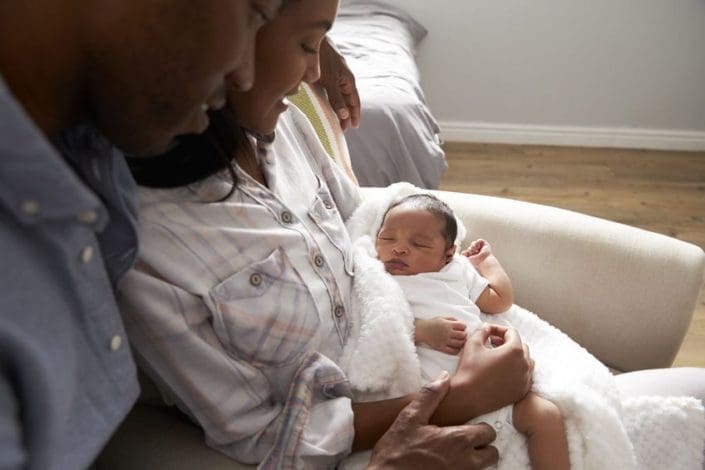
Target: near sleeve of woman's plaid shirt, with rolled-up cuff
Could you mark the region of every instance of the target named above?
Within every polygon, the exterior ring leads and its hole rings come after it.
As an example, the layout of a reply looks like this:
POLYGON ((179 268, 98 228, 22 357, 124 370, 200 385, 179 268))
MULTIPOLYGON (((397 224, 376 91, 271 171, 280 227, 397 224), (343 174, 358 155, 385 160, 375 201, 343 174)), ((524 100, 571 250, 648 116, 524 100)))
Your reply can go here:
POLYGON ((199 296, 144 264, 128 273, 120 292, 138 362, 204 429, 208 445, 243 463, 277 466, 309 459, 333 465, 350 452, 352 406, 332 361, 312 353, 316 360, 304 360, 288 390, 280 390, 222 346, 199 296))

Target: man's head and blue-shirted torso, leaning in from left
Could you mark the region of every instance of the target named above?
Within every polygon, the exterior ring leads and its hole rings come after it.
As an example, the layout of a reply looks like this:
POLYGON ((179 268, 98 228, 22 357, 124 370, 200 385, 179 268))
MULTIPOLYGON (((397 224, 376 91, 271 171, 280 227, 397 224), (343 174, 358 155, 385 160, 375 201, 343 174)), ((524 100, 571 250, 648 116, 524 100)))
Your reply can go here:
POLYGON ((144 155, 200 132, 226 76, 251 85, 279 6, 0 3, 0 468, 85 468, 132 406, 113 289, 136 254, 134 183, 108 141, 144 155))

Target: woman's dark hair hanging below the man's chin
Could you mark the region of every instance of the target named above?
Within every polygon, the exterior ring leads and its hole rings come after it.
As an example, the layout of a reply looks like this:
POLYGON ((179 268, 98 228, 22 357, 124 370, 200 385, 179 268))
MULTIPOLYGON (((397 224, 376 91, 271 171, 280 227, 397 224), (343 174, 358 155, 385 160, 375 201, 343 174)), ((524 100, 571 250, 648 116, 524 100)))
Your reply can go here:
POLYGON ((176 146, 157 157, 128 157, 135 181, 152 188, 175 188, 195 183, 224 168, 230 172, 233 187, 223 199, 230 197, 237 187, 237 174, 232 160, 237 152, 253 152, 247 134, 237 124, 230 106, 208 113, 210 124, 202 134, 180 136, 176 146))

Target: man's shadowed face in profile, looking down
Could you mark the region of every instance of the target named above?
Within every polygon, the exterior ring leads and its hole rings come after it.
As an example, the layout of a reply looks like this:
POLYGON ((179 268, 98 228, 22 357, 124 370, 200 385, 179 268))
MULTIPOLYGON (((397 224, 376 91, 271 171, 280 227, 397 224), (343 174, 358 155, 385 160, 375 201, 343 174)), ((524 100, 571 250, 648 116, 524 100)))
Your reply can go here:
POLYGON ((255 35, 281 0, 118 3, 89 27, 87 108, 108 139, 139 156, 203 132, 207 109, 225 103, 226 79, 252 85, 255 35))

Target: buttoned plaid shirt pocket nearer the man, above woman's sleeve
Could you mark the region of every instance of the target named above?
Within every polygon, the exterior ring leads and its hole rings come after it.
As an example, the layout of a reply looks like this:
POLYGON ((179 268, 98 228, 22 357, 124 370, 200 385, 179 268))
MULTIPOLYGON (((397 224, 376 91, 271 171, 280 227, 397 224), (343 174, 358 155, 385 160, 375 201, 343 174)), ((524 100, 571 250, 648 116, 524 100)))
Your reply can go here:
POLYGON ((210 297, 220 341, 257 367, 295 362, 320 327, 313 297, 281 248, 228 277, 210 297))

